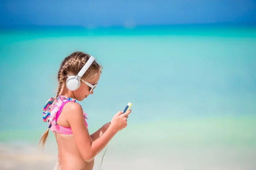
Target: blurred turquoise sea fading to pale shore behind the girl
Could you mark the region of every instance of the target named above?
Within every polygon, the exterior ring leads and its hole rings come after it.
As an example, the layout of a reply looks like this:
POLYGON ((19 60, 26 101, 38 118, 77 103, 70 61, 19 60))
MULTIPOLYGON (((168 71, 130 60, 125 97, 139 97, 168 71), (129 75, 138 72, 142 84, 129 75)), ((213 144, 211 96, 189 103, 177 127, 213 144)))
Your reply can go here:
POLYGON ((0 40, 0 169, 53 169, 52 133, 37 150, 42 109, 74 51, 104 68, 80 102, 90 133, 133 103, 102 170, 256 169, 256 27, 45 27, 0 30, 0 40))

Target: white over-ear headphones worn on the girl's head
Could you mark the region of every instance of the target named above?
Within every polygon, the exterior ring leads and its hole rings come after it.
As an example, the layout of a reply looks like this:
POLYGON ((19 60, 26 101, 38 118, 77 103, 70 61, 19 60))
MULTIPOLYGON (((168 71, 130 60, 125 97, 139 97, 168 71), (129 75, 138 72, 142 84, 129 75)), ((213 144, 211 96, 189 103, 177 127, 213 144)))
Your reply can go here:
POLYGON ((79 73, 76 76, 68 76, 66 81, 66 87, 70 91, 76 91, 80 85, 81 85, 81 77, 84 75, 85 71, 90 67, 90 65, 93 63, 95 58, 93 56, 90 56, 88 61, 85 63, 84 67, 81 68, 79 73))

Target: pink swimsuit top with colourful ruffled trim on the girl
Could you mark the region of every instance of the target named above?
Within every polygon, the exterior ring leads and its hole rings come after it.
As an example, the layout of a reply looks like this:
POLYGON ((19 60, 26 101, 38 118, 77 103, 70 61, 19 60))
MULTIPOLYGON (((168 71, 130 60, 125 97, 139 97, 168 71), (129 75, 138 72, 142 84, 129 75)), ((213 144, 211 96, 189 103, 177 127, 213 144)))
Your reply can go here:
MULTIPOLYGON (((51 97, 45 104, 43 109, 43 121, 49 122, 49 128, 50 130, 56 131, 61 134, 70 135, 73 134, 71 127, 63 127, 57 124, 58 117, 61 114, 61 111, 64 107, 64 105, 67 102, 76 102, 76 99, 65 97, 65 96, 58 96, 55 100, 53 97, 51 97), (54 104, 52 105, 52 102, 54 101, 54 104)), ((88 119, 87 114, 84 113, 84 122, 86 127, 88 127, 86 119, 88 119)))

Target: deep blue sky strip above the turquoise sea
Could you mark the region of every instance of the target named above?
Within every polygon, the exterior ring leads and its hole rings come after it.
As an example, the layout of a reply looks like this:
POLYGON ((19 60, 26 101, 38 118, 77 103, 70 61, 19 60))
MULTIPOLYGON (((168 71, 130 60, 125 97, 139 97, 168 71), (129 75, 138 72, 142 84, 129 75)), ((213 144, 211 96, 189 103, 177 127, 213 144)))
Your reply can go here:
POLYGON ((0 0, 0 27, 256 23, 256 0, 0 0))

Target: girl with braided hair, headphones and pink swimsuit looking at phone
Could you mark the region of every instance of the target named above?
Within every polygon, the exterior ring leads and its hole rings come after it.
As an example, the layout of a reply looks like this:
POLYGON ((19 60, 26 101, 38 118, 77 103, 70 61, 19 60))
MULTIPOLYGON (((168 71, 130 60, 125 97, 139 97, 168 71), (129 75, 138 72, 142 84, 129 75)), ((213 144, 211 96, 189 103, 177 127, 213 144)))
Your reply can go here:
POLYGON ((111 122, 91 135, 88 132, 87 114, 77 101, 93 94, 101 73, 102 66, 82 52, 74 52, 61 62, 57 96, 50 98, 43 109, 43 120, 49 126, 39 142, 44 148, 49 129, 54 133, 58 144, 55 170, 92 170, 94 157, 127 126, 131 110, 117 112, 111 122))

